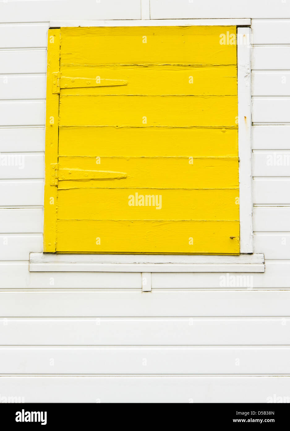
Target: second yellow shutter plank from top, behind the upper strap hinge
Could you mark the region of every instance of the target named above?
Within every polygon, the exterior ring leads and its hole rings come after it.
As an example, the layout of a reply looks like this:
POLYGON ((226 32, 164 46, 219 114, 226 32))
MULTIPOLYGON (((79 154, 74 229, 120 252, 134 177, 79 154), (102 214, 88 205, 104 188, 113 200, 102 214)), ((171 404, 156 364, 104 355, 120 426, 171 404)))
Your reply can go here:
POLYGON ((236 66, 88 66, 61 67, 61 75, 71 78, 88 78, 128 81, 127 85, 67 88, 61 94, 186 94, 186 95, 237 95, 236 66))

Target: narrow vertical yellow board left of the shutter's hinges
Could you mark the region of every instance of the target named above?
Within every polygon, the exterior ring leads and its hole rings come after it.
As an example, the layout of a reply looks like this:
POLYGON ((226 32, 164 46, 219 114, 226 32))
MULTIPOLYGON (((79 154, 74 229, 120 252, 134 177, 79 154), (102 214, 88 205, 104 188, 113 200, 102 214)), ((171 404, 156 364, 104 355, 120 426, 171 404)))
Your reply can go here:
POLYGON ((49 29, 46 75, 46 144, 43 251, 55 252, 57 187, 50 185, 51 164, 58 162, 58 101, 52 94, 52 73, 59 71, 60 30, 49 29))

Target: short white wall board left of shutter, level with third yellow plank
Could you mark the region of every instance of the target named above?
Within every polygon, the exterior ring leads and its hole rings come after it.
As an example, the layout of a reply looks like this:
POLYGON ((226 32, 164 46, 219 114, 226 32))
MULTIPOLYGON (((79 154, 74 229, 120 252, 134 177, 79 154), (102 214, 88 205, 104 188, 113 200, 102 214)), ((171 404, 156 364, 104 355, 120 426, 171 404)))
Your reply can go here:
POLYGON ((0 101, 1 126, 39 126, 44 124, 44 100, 0 101))

